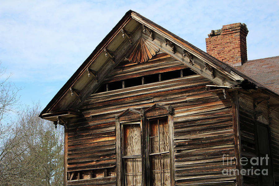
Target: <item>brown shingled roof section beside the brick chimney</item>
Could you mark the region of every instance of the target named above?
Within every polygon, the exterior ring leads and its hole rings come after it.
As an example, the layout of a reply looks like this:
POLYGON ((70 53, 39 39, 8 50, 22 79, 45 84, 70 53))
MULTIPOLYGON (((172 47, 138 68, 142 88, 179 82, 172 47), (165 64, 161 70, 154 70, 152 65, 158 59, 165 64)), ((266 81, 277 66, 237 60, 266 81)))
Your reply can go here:
POLYGON ((279 93, 279 56, 248 60, 235 68, 279 93))

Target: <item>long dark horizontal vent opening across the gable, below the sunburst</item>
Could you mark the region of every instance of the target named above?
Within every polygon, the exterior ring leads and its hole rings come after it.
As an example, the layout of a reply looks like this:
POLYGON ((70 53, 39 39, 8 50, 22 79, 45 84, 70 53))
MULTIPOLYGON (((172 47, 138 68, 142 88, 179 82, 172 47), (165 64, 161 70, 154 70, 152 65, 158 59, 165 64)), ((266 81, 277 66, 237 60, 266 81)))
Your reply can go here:
POLYGON ((121 81, 109 82, 106 84, 101 84, 100 88, 95 93, 119 90, 122 88, 128 88, 133 86, 145 85, 149 83, 161 82, 175 78, 182 78, 186 76, 196 75, 194 71, 190 68, 172 70, 168 72, 149 74, 146 76, 139 76, 135 78, 124 79, 121 81))

